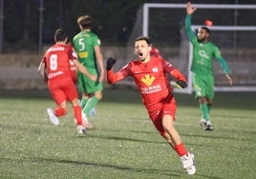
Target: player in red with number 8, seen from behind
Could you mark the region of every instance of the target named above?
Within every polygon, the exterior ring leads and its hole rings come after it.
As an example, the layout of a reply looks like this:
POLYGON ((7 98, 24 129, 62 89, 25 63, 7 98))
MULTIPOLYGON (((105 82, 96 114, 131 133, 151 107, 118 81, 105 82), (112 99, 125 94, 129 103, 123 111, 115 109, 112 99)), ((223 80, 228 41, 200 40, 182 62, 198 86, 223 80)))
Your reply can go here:
POLYGON ((85 134, 86 128, 82 124, 82 109, 78 104, 78 94, 70 71, 70 60, 73 61, 77 70, 90 79, 96 81, 96 75, 88 72, 78 62, 75 50, 67 46, 68 35, 65 30, 55 30, 54 40, 55 44, 46 50, 38 68, 39 74, 48 81, 48 89, 57 105, 55 109, 47 109, 47 112, 52 123, 58 125, 58 117, 68 112, 67 101, 72 102, 78 132, 85 134))

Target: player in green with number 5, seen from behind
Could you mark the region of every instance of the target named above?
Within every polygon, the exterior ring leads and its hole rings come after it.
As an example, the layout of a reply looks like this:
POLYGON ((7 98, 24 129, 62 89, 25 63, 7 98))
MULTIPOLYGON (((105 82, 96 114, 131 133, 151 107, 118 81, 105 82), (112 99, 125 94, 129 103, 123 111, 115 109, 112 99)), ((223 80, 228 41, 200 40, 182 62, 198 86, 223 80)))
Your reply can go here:
POLYGON ((78 89, 82 92, 81 106, 83 113, 87 116, 90 111, 94 111, 96 104, 102 99, 102 81, 105 70, 100 50, 100 40, 96 33, 91 31, 91 16, 79 16, 77 24, 81 31, 75 35, 73 42, 78 61, 87 70, 98 76, 97 80, 93 81, 88 76, 80 72, 77 73, 78 89))

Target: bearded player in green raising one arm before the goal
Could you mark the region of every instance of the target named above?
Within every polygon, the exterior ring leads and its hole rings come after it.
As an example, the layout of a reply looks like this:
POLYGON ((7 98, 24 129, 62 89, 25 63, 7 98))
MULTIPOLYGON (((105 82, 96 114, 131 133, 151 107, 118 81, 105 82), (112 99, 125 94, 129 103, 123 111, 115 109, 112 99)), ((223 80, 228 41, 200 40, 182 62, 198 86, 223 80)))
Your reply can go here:
POLYGON ((197 31, 197 35, 191 29, 191 15, 197 10, 191 7, 191 3, 186 4, 185 30, 190 42, 193 45, 193 61, 191 70, 193 72, 193 86, 195 98, 199 99, 202 119, 200 125, 205 130, 212 130, 210 121, 210 109, 214 97, 214 76, 212 61, 215 57, 224 69, 225 77, 232 85, 232 78, 229 76, 229 69, 221 54, 221 51, 214 44, 208 41, 210 30, 202 27, 197 31))

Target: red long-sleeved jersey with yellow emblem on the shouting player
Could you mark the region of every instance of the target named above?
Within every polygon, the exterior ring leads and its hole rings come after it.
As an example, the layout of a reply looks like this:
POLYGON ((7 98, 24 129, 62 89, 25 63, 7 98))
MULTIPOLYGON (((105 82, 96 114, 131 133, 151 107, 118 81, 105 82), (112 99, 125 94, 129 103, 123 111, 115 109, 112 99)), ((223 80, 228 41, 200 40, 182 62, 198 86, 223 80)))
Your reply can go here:
POLYGON ((108 83, 114 84, 127 76, 132 76, 144 105, 149 107, 158 104, 169 95, 170 87, 166 84, 166 73, 177 80, 186 81, 179 70, 160 57, 151 57, 147 63, 141 63, 139 60, 131 61, 116 73, 114 70, 108 70, 107 80, 108 83))

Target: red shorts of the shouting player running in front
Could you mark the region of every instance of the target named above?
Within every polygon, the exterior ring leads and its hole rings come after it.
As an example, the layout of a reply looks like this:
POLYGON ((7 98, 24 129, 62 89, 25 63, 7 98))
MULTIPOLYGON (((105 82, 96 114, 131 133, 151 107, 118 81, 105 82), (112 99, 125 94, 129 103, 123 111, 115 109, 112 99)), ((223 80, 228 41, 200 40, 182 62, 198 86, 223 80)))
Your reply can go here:
POLYGON ((161 134, 165 133, 165 130, 162 127, 162 117, 163 115, 169 114, 175 120, 176 114, 176 101, 173 95, 169 95, 164 98, 158 104, 153 107, 147 108, 150 119, 152 120, 156 129, 160 131, 161 134))

